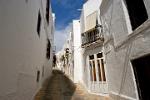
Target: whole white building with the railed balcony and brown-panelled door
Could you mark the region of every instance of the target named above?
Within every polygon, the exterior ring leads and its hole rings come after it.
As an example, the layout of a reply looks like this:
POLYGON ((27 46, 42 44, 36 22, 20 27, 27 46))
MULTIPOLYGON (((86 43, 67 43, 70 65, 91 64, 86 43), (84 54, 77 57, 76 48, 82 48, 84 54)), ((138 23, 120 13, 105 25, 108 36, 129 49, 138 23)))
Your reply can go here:
POLYGON ((82 80, 92 93, 107 94, 104 37, 100 22, 101 0, 88 0, 80 18, 82 39, 82 80))

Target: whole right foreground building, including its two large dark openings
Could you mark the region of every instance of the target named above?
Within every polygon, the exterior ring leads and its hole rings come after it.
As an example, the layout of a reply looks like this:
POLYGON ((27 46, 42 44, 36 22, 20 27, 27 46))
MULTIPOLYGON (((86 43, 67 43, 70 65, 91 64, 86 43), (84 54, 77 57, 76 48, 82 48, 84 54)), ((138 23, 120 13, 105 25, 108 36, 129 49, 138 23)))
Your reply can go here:
POLYGON ((113 100, 150 100, 150 0, 102 0, 105 63, 113 100))

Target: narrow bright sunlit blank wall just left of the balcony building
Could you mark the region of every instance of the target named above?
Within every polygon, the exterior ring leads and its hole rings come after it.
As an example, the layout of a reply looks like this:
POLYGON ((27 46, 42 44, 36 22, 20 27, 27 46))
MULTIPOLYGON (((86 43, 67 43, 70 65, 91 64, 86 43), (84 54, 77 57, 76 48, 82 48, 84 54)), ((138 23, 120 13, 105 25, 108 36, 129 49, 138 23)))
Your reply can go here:
POLYGON ((74 82, 83 82, 82 56, 81 56, 81 33, 79 20, 73 20, 74 40, 74 82))

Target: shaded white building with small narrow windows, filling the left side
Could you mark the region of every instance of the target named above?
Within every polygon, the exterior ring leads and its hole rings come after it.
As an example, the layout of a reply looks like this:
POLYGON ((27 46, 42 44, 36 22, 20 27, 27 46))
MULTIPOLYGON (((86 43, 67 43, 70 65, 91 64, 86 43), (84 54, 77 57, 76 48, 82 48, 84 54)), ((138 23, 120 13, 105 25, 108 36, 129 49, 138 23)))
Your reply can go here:
POLYGON ((51 75, 49 0, 0 0, 0 100, 33 100, 51 75))

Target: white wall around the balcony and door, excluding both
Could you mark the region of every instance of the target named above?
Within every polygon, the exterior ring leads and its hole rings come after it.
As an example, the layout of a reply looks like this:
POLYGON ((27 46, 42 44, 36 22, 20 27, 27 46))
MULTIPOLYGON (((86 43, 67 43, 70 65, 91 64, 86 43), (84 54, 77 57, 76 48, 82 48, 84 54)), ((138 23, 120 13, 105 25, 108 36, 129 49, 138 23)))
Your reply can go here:
MULTIPOLYGON (((100 4, 101 4, 102 0, 88 0, 84 5, 83 5, 83 10, 81 13, 81 17, 80 17, 80 27, 81 27, 81 32, 80 32, 80 36, 83 32, 87 31, 86 29, 86 18, 87 16, 89 16, 90 14, 97 12, 97 18, 100 15, 100 4)), ((98 19, 99 24, 100 24, 100 20, 98 19)), ((93 27, 91 27, 92 29, 93 27)), ((82 44, 82 43, 81 43, 82 44)), ((91 89, 91 80, 90 80, 90 72, 89 72, 89 61, 88 61, 88 56, 92 55, 92 54, 97 54, 99 52, 102 52, 102 45, 91 45, 90 47, 87 48, 82 48, 82 73, 83 73, 83 83, 85 85, 85 87, 88 88, 88 90, 91 89)), ((96 86, 94 86, 96 87, 96 86)), ((97 90, 100 89, 99 87, 96 87, 97 90)), ((91 90, 91 92, 93 92, 91 90)), ((100 92, 98 92, 100 93, 100 92)))

